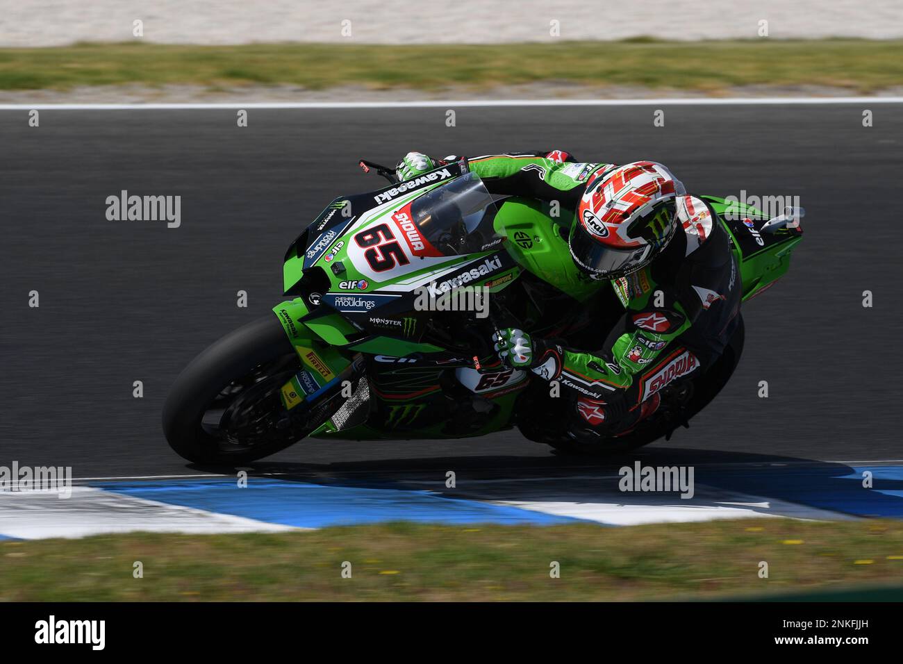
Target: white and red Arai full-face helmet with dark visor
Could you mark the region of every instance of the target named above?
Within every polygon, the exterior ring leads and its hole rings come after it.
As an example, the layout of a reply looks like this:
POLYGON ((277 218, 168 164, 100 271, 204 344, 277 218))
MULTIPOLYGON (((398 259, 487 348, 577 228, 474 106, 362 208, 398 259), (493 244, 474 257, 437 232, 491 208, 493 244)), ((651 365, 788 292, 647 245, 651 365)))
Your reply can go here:
POLYGON ((665 248, 677 228, 683 183, 662 164, 634 162, 592 178, 577 208, 574 262, 598 279, 628 275, 665 248))

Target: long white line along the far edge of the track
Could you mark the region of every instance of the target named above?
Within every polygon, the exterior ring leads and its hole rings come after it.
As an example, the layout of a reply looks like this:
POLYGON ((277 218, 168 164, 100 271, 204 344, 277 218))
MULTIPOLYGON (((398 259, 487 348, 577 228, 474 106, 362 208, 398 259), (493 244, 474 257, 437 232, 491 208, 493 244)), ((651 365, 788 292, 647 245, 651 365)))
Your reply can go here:
POLYGON ((205 110, 215 108, 466 108, 563 106, 781 106, 825 104, 903 104, 903 97, 718 97, 649 99, 426 99, 421 101, 287 101, 185 104, 0 104, 0 110, 205 110))

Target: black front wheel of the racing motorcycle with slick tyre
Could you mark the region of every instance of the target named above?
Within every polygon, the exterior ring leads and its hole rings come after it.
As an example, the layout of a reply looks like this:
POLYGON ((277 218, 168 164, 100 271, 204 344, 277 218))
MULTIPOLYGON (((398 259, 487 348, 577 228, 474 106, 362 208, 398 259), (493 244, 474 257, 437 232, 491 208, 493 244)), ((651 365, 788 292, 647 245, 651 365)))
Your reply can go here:
POLYGON ((285 410, 280 389, 301 369, 275 315, 214 342, 175 379, 163 406, 170 447, 194 463, 235 465, 284 450, 332 416, 340 399, 285 410))

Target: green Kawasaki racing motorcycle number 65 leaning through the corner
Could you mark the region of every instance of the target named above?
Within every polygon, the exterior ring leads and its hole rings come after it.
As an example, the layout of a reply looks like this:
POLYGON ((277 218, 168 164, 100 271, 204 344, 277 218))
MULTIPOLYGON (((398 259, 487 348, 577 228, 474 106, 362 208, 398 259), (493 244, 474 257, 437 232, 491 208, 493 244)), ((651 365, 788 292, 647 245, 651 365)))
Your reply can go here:
MULTIPOLYGON (((623 452, 686 426, 730 379, 741 319, 708 369, 681 369, 663 352, 638 375, 653 386, 642 398, 654 392, 661 407, 628 433, 592 450, 536 435, 527 424, 553 403, 550 383, 501 365, 492 332, 517 325, 598 341, 607 323, 588 312, 609 313, 608 323, 623 313, 607 283, 574 265, 570 220, 541 201, 491 195, 464 162, 405 182, 385 166, 360 166, 390 183, 331 201, 285 253, 290 299, 213 343, 175 380, 163 431, 183 458, 237 464, 303 438, 448 439, 516 426, 564 452, 623 452)), ((702 198, 730 236, 743 301, 784 276, 802 210, 769 219, 702 198)))

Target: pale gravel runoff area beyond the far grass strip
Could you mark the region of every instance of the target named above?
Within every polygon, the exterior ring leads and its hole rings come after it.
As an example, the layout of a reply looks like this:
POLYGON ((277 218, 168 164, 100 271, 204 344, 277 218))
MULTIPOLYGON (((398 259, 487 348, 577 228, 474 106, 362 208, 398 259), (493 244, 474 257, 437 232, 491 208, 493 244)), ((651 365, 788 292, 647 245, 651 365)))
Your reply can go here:
POLYGON ((899 0, 0 0, 0 47, 123 42, 137 19, 146 41, 193 44, 756 39, 761 21, 776 39, 903 36, 899 0))

